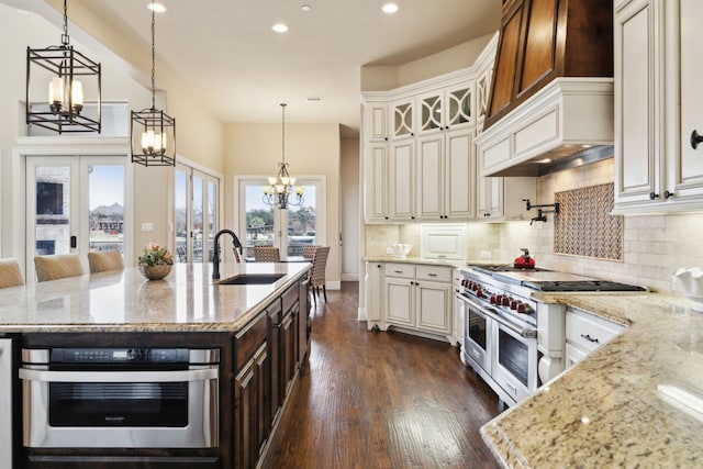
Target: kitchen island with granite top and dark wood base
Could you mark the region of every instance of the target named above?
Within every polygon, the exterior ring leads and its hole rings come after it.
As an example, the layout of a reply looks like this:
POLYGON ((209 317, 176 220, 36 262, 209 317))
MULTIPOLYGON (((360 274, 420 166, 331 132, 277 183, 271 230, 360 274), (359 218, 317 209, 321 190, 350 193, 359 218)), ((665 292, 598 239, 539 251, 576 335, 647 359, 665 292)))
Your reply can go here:
MULTIPOLYGON (((210 265, 181 264, 164 280, 147 281, 138 269, 126 268, 0 290, 0 338, 12 340, 13 350, 13 405, 8 421, 13 424, 14 465, 254 467, 276 432, 306 358, 309 269, 304 263, 225 264, 220 268, 223 280, 239 275, 280 278, 270 283, 217 284, 211 280, 210 265), (215 350, 217 380, 209 389, 217 405, 210 405, 215 409, 214 425, 207 432, 217 444, 192 448, 167 443, 144 448, 136 443, 111 446, 110 440, 104 445, 87 440, 85 447, 27 444, 27 423, 22 421, 27 380, 14 379, 22 377, 22 370, 18 372, 25 359, 22 355, 20 360, 21 350, 56 348, 120 354, 155 348, 215 350)), ((203 402, 208 400, 205 395, 203 402)), ((105 426, 94 434, 109 435, 105 426)))

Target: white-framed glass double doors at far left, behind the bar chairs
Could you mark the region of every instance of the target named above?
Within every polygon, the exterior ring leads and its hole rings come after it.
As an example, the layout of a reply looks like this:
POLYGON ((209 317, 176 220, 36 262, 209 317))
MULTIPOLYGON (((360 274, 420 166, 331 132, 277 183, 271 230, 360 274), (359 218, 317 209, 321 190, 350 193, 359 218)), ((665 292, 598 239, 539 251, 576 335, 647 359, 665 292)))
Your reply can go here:
POLYGON ((34 257, 125 252, 125 158, 51 156, 26 159, 26 275, 34 257))

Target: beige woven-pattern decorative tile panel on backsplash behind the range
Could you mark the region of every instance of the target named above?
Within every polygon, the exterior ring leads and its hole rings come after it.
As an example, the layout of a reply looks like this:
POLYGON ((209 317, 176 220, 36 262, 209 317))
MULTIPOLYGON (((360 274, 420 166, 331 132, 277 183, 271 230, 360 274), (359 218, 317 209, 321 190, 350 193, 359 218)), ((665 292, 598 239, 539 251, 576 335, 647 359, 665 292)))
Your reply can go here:
POLYGON ((623 260, 624 217, 611 215, 614 185, 555 193, 554 252, 598 259, 623 260))

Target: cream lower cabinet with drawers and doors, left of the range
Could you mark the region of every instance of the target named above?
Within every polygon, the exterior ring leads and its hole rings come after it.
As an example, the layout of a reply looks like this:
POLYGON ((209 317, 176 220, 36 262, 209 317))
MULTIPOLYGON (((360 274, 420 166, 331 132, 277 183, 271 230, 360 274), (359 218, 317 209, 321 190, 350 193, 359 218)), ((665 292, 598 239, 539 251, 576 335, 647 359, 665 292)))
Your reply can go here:
POLYGON ((373 310, 367 312, 370 323, 383 331, 399 327, 455 343, 451 267, 402 263, 370 263, 369 267, 367 289, 371 301, 367 308, 373 310), (378 271, 381 265, 382 273, 378 271))

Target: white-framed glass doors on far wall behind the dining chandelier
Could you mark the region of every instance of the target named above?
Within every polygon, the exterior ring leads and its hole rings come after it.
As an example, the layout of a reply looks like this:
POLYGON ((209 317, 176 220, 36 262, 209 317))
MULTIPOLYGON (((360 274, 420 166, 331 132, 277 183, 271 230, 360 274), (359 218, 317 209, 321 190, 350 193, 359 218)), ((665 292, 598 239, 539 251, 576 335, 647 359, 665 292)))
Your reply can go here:
POLYGON ((281 256, 301 256, 306 245, 325 244, 324 179, 297 179, 304 189, 303 202, 287 210, 264 201, 265 178, 239 179, 237 236, 246 257, 254 257, 254 246, 276 246, 281 256))

